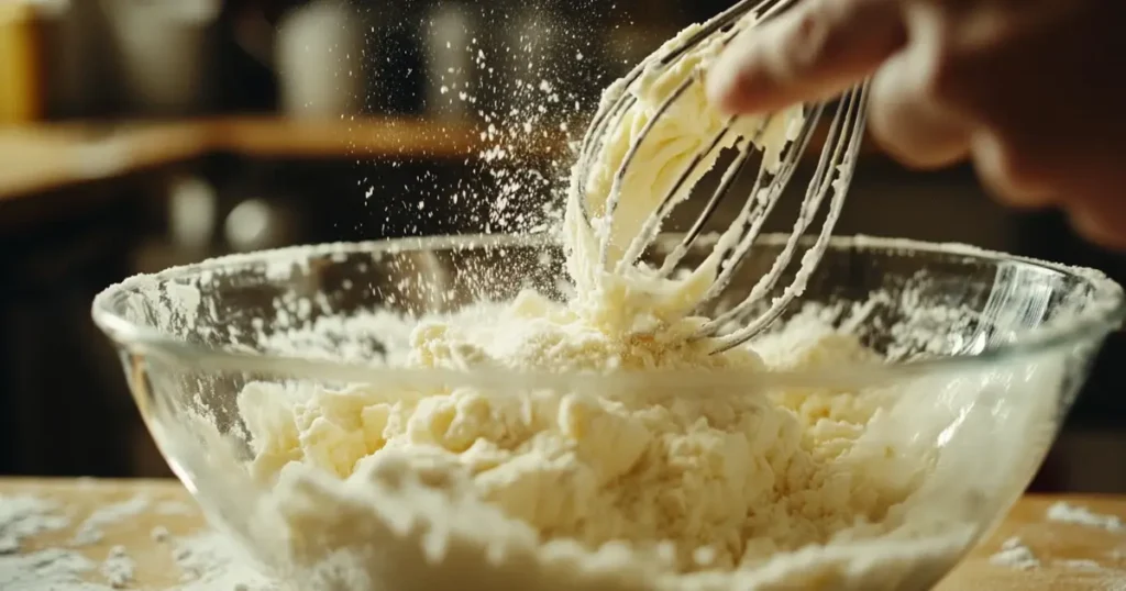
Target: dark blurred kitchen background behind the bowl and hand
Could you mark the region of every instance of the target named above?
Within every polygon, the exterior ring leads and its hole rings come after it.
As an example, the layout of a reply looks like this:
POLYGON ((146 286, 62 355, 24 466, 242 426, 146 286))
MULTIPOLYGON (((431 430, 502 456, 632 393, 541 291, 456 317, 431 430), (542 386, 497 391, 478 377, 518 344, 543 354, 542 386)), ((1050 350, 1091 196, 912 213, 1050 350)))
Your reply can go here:
MULTIPOLYGON (((294 243, 535 227, 600 88, 729 5, 0 0, 0 474, 169 474, 89 320, 107 285, 294 243), (524 227, 497 227, 498 207, 524 227)), ((1126 279, 1126 259, 994 205, 972 170, 911 173, 867 145, 839 233, 1126 279)), ((1106 462, 1126 454, 1124 344, 1038 490, 1126 492, 1106 462)))

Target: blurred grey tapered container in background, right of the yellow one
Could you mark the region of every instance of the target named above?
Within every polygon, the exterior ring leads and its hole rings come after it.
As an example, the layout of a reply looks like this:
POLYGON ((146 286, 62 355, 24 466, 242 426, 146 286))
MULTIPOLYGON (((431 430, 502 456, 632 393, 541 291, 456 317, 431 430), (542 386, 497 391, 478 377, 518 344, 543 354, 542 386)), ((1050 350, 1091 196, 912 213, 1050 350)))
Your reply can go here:
POLYGON ((218 0, 102 2, 120 55, 124 102, 132 114, 182 116, 205 110, 218 0))

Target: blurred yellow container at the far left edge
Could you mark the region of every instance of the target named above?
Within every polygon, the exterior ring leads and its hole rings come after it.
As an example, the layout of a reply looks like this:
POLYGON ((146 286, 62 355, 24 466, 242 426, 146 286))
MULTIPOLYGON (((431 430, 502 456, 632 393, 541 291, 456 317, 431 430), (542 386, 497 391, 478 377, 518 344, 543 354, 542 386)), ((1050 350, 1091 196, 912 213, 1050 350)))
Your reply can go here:
POLYGON ((0 1, 0 125, 43 115, 43 60, 35 17, 28 1, 0 1))

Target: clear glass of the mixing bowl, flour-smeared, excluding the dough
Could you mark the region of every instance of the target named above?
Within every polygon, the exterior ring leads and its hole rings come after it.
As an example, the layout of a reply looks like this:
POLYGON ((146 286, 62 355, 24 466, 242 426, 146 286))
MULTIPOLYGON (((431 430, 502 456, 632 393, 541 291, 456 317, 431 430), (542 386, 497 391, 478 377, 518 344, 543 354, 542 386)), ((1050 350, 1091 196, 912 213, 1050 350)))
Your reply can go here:
MULTIPOLYGON (((781 240, 761 241, 733 293, 745 292, 768 268, 781 240)), ((157 444, 212 522, 294 588, 314 589, 323 580, 266 549, 275 540, 253 522, 268 491, 253 484, 243 467, 252 456, 236 406, 245 384, 429 383, 520 395, 537 388, 601 388, 608 378, 394 368, 378 355, 384 338, 374 332, 328 331, 303 343, 268 337, 323 316, 450 311, 482 297, 511 298, 527 287, 563 298, 562 269, 560 248, 536 238, 294 248, 132 278, 96 298, 93 319, 116 343, 157 444)), ((931 586, 1003 517, 1043 460, 1103 338, 1124 315, 1120 287, 1097 271, 967 247, 859 236, 833 241, 804 299, 824 304, 825 319, 855 332, 886 362, 772 371, 756 376, 756 387, 830 387, 861 396, 888 384, 902 386, 903 397, 914 400, 905 410, 888 412, 910 415, 892 421, 897 431, 883 437, 915 449, 917 462, 928 457, 935 466, 920 493, 926 511, 903 519, 940 516, 932 531, 940 532, 947 527, 942 523, 963 528, 953 538, 956 550, 940 559, 917 561, 894 576, 854 577, 852 586, 866 589, 931 586), (920 414, 927 420, 914 420, 920 414)), ((794 306, 787 315, 798 311, 794 306)), ((696 385, 715 379, 720 389, 745 386, 731 382, 736 377, 691 379, 696 385)), ((677 384, 676 376, 660 373, 629 378, 631 387, 654 392, 677 384)), ((379 540, 373 545, 377 548, 379 540)), ((459 589, 511 582, 490 579, 482 564, 462 565, 467 571, 459 589)), ((370 574, 379 576, 381 568, 370 574)), ((811 581, 810 586, 824 586, 811 581)), ((393 583, 400 590, 440 586, 425 576, 393 583)))

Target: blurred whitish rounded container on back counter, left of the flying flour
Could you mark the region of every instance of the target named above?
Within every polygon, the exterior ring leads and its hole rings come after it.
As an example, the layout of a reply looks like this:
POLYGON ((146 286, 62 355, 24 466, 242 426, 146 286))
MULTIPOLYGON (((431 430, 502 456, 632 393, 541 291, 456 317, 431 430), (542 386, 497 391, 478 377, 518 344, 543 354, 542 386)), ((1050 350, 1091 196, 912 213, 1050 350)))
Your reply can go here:
POLYGON ((365 93, 360 15, 342 0, 315 0, 278 26, 282 108, 302 117, 359 111, 365 93))

